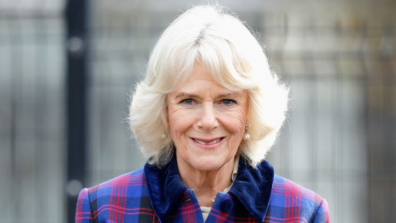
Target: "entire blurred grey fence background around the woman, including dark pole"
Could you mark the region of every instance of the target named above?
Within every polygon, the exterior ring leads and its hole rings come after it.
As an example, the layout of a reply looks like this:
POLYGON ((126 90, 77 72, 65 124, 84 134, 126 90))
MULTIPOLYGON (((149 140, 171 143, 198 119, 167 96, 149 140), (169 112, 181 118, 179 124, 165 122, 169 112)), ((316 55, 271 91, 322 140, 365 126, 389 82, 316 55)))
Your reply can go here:
MULTIPOLYGON (((218 2, 291 86, 275 172, 326 198, 334 223, 394 221, 396 1, 218 2)), ((82 187, 144 165, 128 95, 190 3, 0 1, 1 223, 74 222, 82 187)))

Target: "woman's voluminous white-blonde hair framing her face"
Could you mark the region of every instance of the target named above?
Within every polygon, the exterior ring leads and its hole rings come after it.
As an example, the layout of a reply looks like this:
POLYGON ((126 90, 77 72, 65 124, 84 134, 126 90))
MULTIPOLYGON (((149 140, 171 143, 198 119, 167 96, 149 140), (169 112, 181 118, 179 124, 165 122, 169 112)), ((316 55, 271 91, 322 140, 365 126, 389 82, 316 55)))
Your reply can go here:
POLYGON ((195 61, 220 85, 247 92, 250 140, 242 140, 238 152, 252 167, 265 158, 285 120, 289 90, 271 71, 263 47, 246 26, 224 7, 204 5, 188 9, 162 33, 145 78, 131 96, 128 117, 150 164, 164 167, 173 156, 167 94, 184 83, 195 61))

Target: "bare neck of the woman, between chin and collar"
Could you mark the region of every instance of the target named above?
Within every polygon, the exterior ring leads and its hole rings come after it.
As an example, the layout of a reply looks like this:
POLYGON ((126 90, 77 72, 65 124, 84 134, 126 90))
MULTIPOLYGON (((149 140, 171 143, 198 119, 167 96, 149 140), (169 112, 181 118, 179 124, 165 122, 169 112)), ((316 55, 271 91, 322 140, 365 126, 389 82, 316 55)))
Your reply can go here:
POLYGON ((187 188, 194 189, 200 206, 211 207, 212 197, 231 185, 235 159, 215 170, 198 170, 177 159, 181 180, 187 188))

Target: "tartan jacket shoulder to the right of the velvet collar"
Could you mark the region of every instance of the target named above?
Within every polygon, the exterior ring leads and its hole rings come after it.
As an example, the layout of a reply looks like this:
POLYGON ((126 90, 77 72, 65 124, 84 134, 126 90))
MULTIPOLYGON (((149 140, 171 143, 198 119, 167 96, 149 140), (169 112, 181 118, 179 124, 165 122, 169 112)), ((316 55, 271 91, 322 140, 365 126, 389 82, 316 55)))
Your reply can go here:
POLYGON ((282 218, 296 221, 330 222, 327 201, 319 194, 284 177, 274 175, 270 213, 282 213, 282 218))

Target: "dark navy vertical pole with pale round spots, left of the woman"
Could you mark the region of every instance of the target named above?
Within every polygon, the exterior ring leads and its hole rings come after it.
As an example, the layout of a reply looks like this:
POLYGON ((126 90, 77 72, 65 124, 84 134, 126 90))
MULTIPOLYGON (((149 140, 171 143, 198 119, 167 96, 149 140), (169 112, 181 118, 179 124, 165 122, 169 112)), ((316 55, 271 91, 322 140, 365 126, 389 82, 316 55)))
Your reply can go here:
POLYGON ((86 177, 87 1, 68 0, 67 17, 67 222, 74 222, 86 177))

